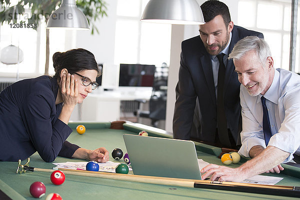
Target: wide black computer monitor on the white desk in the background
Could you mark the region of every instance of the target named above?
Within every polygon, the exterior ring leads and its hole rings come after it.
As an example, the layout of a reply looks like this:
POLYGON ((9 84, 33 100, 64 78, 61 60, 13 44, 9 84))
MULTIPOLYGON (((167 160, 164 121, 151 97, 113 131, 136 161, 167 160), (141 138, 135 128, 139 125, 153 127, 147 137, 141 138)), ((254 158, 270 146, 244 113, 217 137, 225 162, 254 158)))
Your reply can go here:
POLYGON ((154 73, 152 64, 120 64, 119 86, 151 87, 154 73))

